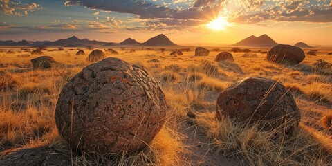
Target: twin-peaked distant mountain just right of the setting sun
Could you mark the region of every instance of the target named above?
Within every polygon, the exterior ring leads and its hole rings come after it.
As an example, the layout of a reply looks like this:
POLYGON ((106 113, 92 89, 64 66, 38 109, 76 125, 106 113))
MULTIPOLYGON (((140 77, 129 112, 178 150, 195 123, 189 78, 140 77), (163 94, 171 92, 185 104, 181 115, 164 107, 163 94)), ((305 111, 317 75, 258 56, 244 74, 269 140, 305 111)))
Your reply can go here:
POLYGON ((250 47, 273 47, 276 46, 277 42, 275 42, 268 35, 261 35, 259 37, 255 37, 254 35, 247 37, 246 39, 237 42, 233 46, 250 46, 250 47))

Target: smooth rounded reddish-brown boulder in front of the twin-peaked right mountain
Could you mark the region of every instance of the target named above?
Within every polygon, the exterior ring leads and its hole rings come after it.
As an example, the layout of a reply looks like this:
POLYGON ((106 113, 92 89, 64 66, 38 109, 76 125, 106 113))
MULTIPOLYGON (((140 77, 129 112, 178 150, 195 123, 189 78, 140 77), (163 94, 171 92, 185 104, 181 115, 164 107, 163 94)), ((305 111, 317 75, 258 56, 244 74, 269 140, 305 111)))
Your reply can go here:
POLYGON ((296 46, 279 44, 268 51, 267 59, 277 64, 299 64, 306 58, 304 51, 296 46))

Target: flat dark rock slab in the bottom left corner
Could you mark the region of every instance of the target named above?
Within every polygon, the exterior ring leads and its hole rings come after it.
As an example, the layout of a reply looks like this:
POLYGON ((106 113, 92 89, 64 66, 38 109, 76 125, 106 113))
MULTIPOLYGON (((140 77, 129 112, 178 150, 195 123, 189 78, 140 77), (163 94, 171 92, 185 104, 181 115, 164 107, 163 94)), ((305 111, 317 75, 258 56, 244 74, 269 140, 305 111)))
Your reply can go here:
POLYGON ((10 149, 0 154, 0 165, 71 165, 71 155, 55 148, 10 149))

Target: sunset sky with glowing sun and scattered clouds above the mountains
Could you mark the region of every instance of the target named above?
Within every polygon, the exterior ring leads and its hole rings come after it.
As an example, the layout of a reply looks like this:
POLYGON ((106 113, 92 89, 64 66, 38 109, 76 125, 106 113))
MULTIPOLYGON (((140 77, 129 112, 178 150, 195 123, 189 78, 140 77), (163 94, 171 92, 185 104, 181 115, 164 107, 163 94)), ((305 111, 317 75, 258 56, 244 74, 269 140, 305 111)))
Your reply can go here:
POLYGON ((0 0, 0 40, 234 44, 268 35, 279 44, 332 45, 331 0, 0 0))

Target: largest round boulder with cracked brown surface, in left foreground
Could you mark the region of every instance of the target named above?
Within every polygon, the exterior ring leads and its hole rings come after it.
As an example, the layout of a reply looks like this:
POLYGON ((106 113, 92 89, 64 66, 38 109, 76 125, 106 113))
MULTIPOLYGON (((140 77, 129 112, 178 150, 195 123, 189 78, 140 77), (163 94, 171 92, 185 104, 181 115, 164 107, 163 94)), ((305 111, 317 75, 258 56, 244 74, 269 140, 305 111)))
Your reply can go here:
POLYGON ((165 122, 165 95, 139 66, 109 57, 84 68, 62 89, 55 109, 59 133, 73 147, 131 154, 165 122))

